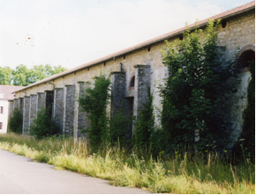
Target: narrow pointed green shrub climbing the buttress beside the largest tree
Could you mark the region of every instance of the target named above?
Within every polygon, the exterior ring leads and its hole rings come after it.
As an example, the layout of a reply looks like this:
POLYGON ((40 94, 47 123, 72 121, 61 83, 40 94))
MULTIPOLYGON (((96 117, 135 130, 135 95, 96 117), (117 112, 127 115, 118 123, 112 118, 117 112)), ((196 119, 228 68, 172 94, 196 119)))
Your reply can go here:
POLYGON ((149 145, 152 144, 152 139, 154 139, 153 95, 150 93, 149 86, 147 92, 148 102, 147 104, 143 104, 139 111, 139 119, 134 128, 134 144, 138 148, 149 147, 149 145))

